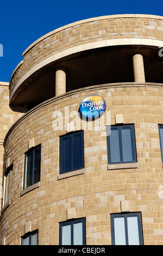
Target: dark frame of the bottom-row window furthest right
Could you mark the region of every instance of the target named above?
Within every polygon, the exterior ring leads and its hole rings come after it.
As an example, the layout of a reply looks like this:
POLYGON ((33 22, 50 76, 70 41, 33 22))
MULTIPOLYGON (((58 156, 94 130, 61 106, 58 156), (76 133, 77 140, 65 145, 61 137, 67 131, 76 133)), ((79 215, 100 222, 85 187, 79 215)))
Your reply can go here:
POLYGON ((143 245, 143 230, 142 230, 142 217, 141 212, 129 212, 124 214, 111 214, 110 221, 111 221, 111 243, 115 245, 115 227, 114 227, 114 219, 124 217, 124 224, 125 224, 125 239, 126 245, 128 245, 128 227, 127 227, 127 217, 137 217, 138 223, 138 230, 139 230, 139 244, 143 245))

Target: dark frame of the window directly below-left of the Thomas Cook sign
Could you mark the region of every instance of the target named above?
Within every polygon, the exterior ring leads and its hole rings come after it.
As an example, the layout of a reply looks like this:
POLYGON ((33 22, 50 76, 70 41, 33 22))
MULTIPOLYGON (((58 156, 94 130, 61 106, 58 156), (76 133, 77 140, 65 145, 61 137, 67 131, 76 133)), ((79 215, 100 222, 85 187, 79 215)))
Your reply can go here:
POLYGON ((59 153, 60 153, 59 154, 59 165, 60 165, 59 174, 70 173, 70 172, 73 172, 74 170, 80 170, 80 169, 84 168, 84 131, 83 130, 67 133, 66 135, 60 136, 59 148, 60 148, 59 149, 59 153), (78 168, 73 168, 73 136, 78 135, 78 134, 81 134, 81 136, 82 136, 82 156, 81 156, 82 166, 80 166, 78 168), (71 147, 71 169, 64 171, 63 170, 63 161, 64 161, 63 160, 63 149, 64 149, 64 146, 63 146, 62 142, 63 142, 64 138, 68 138, 68 137, 71 138, 71 145, 70 145, 70 147, 71 147))

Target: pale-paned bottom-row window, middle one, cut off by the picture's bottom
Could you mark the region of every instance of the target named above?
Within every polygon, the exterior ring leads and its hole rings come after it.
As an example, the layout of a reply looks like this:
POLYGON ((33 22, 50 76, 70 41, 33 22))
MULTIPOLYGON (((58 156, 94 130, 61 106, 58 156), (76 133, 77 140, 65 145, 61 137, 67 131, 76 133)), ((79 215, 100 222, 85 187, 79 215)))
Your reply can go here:
POLYGON ((85 245, 85 218, 60 223, 60 245, 85 245))

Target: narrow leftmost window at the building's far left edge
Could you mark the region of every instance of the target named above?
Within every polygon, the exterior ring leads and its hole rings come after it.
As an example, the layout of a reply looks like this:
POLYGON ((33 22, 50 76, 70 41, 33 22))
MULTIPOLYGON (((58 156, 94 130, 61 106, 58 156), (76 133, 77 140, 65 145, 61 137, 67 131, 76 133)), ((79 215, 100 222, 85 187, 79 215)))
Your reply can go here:
POLYGON ((4 204, 9 202, 11 197, 11 182, 12 181, 12 165, 9 167, 7 173, 5 173, 5 195, 4 195, 4 204))

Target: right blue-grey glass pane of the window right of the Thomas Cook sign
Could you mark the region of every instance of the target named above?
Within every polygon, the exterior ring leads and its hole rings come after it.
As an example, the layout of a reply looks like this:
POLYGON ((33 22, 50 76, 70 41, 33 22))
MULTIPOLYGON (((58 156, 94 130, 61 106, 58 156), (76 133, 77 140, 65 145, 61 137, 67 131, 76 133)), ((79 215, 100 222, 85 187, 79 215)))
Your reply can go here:
POLYGON ((123 151, 123 162, 133 161, 131 127, 123 127, 122 129, 122 151, 123 151))

